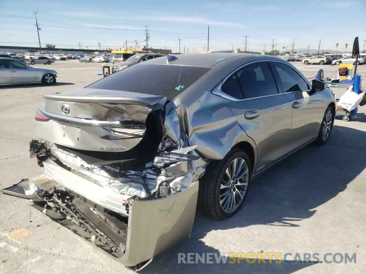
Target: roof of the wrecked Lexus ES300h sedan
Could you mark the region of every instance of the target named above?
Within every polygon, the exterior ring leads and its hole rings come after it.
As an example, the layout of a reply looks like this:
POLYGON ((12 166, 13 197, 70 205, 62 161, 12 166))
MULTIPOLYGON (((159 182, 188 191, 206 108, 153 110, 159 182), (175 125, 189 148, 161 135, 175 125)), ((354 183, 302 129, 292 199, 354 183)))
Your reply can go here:
MULTIPOLYGON (((234 64, 240 59, 243 63, 261 60, 283 60, 282 58, 264 54, 250 54, 250 53, 195 53, 195 54, 176 54, 176 60, 170 61, 169 65, 186 65, 186 66, 201 66, 206 68, 212 68, 219 63, 225 63, 225 65, 234 64)), ((149 64, 167 64, 167 58, 154 58, 147 61, 149 64)))

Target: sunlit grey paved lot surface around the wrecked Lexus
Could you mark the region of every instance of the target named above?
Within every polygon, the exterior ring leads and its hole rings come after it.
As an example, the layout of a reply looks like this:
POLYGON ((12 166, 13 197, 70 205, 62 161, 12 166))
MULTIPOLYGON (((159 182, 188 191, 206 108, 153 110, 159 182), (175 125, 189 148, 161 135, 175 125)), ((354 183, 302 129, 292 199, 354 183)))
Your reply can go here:
MULTIPOLYGON (((337 66, 294 63, 306 77, 337 66)), ((45 67, 45 65, 38 65, 45 67)), ((33 120, 42 94, 82 88, 100 79, 101 64, 46 65, 58 83, 0 88, 0 187, 41 174, 29 159, 33 120)), ((366 77, 366 65, 358 72, 366 77)), ((365 85, 364 85, 365 86, 365 85)), ((340 96, 344 91, 337 91, 340 96), (339 94, 340 93, 340 94, 339 94)), ((215 222, 197 213, 191 238, 154 258, 141 273, 365 273, 366 107, 357 121, 336 119, 328 144, 310 145, 259 178, 235 217, 215 222), (365 163, 363 163, 365 161, 365 163), (291 252, 290 263, 178 264, 179 252, 291 252), (356 263, 299 263, 294 254, 357 253, 356 263)), ((0 273, 128 273, 30 202, 0 194, 0 273)), ((148 229, 148 228, 146 228, 148 229)), ((328 258, 332 260, 332 256, 328 258)))

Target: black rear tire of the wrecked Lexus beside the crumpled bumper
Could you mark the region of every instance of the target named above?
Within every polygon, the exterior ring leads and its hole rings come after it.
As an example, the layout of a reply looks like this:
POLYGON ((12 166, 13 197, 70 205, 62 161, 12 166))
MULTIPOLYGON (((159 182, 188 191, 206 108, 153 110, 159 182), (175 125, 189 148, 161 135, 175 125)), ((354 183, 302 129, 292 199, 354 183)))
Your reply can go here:
POLYGON ((249 157, 242 149, 231 149, 224 159, 211 163, 206 170, 205 175, 203 175, 199 180, 198 208, 204 214, 213 218, 214 220, 225 220, 231 218, 239 212, 244 204, 250 185, 250 179, 251 163, 249 157), (229 175, 226 172, 229 165, 234 163, 235 159, 240 159, 236 163, 243 163, 244 167, 246 167, 243 169, 243 172, 245 170, 246 175, 241 178, 245 179, 243 182, 245 185, 241 185, 239 187, 234 181, 230 182, 231 179, 229 179, 229 175), (225 180, 228 180, 227 183, 224 183, 224 178, 225 180), (221 189, 221 186, 224 188, 221 189), (241 193, 239 192, 239 188, 241 189, 240 191, 242 191, 241 193), (223 206, 221 206, 220 196, 222 196, 224 193, 229 194, 227 194, 226 198, 224 198, 223 206), (231 210, 229 207, 225 208, 225 203, 227 203, 227 200, 231 197, 230 193, 234 193, 234 197, 236 197, 236 199, 241 199, 240 203, 236 204, 235 209, 233 210, 231 210))

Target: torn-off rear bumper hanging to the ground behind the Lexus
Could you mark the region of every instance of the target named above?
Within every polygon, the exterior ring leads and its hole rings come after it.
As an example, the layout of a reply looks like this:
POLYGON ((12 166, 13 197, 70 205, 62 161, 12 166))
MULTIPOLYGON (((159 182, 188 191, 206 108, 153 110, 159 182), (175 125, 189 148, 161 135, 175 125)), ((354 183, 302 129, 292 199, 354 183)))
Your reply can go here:
POLYGON ((53 221, 137 271, 157 254, 190 236, 198 182, 166 198, 138 200, 132 197, 127 201, 128 217, 60 186, 47 174, 23 179, 0 191, 31 199, 32 206, 53 221))

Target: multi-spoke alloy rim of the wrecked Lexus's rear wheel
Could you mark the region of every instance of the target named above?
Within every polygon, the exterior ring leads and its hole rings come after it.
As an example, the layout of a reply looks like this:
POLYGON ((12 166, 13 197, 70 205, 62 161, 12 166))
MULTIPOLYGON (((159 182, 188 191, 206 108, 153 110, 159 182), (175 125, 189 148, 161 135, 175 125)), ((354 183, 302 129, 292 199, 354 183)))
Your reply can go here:
POLYGON ((220 205, 225 213, 234 212, 244 200, 249 183, 249 168, 243 158, 231 161, 220 185, 220 205))

